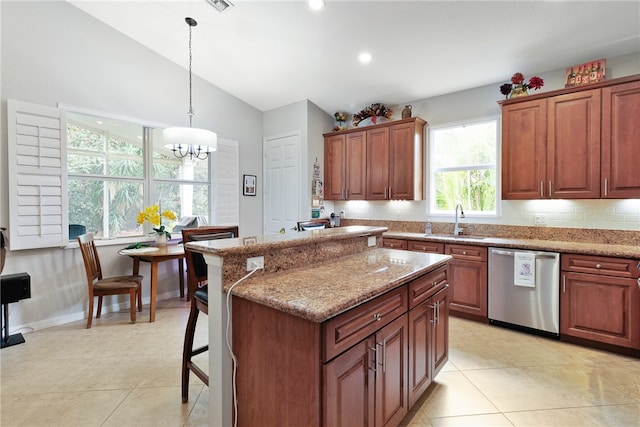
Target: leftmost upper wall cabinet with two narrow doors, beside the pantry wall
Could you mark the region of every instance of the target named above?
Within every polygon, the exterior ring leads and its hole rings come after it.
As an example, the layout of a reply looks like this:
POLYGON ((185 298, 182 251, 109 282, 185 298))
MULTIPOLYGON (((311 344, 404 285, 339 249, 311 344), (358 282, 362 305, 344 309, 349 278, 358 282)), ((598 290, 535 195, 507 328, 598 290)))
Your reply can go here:
POLYGON ((366 196, 366 134, 325 138, 324 196, 327 200, 363 200, 366 196))

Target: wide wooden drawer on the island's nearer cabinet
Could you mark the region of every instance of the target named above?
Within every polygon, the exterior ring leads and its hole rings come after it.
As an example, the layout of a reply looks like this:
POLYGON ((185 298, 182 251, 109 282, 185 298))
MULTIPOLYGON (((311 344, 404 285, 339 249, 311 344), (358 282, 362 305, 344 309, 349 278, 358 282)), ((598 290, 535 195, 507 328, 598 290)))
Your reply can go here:
POLYGON ((407 312, 407 286, 401 286, 323 323, 323 361, 333 359, 407 312))

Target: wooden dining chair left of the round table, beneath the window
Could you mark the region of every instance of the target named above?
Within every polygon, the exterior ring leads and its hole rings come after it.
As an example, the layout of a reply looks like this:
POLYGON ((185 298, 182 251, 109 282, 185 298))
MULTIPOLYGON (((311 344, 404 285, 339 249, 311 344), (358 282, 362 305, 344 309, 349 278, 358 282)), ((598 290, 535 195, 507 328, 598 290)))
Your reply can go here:
POLYGON ((138 300, 138 311, 142 311, 142 276, 115 276, 103 277, 98 250, 93 239, 93 233, 81 234, 78 236, 80 252, 84 261, 84 269, 87 273, 87 287, 89 290, 89 315, 87 317, 87 329, 91 328, 93 320, 93 301, 98 297, 98 308, 96 319, 100 318, 102 312, 102 297, 105 295, 126 295, 130 296, 131 323, 136 323, 136 296, 138 300))

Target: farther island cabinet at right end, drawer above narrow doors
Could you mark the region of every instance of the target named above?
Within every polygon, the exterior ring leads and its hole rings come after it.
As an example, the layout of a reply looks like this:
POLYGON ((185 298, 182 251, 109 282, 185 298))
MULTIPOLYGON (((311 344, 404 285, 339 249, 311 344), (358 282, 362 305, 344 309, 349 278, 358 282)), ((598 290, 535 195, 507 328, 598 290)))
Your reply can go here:
POLYGON ((449 357, 449 287, 442 267, 409 287, 409 407, 449 357))

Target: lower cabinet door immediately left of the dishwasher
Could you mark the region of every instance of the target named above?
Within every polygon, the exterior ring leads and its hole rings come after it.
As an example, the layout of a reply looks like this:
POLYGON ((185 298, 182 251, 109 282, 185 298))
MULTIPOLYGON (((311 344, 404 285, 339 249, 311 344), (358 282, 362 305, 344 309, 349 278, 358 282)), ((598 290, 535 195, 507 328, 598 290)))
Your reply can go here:
POLYGON ((487 317, 487 263, 452 259, 449 261, 451 300, 449 311, 473 318, 487 317))

